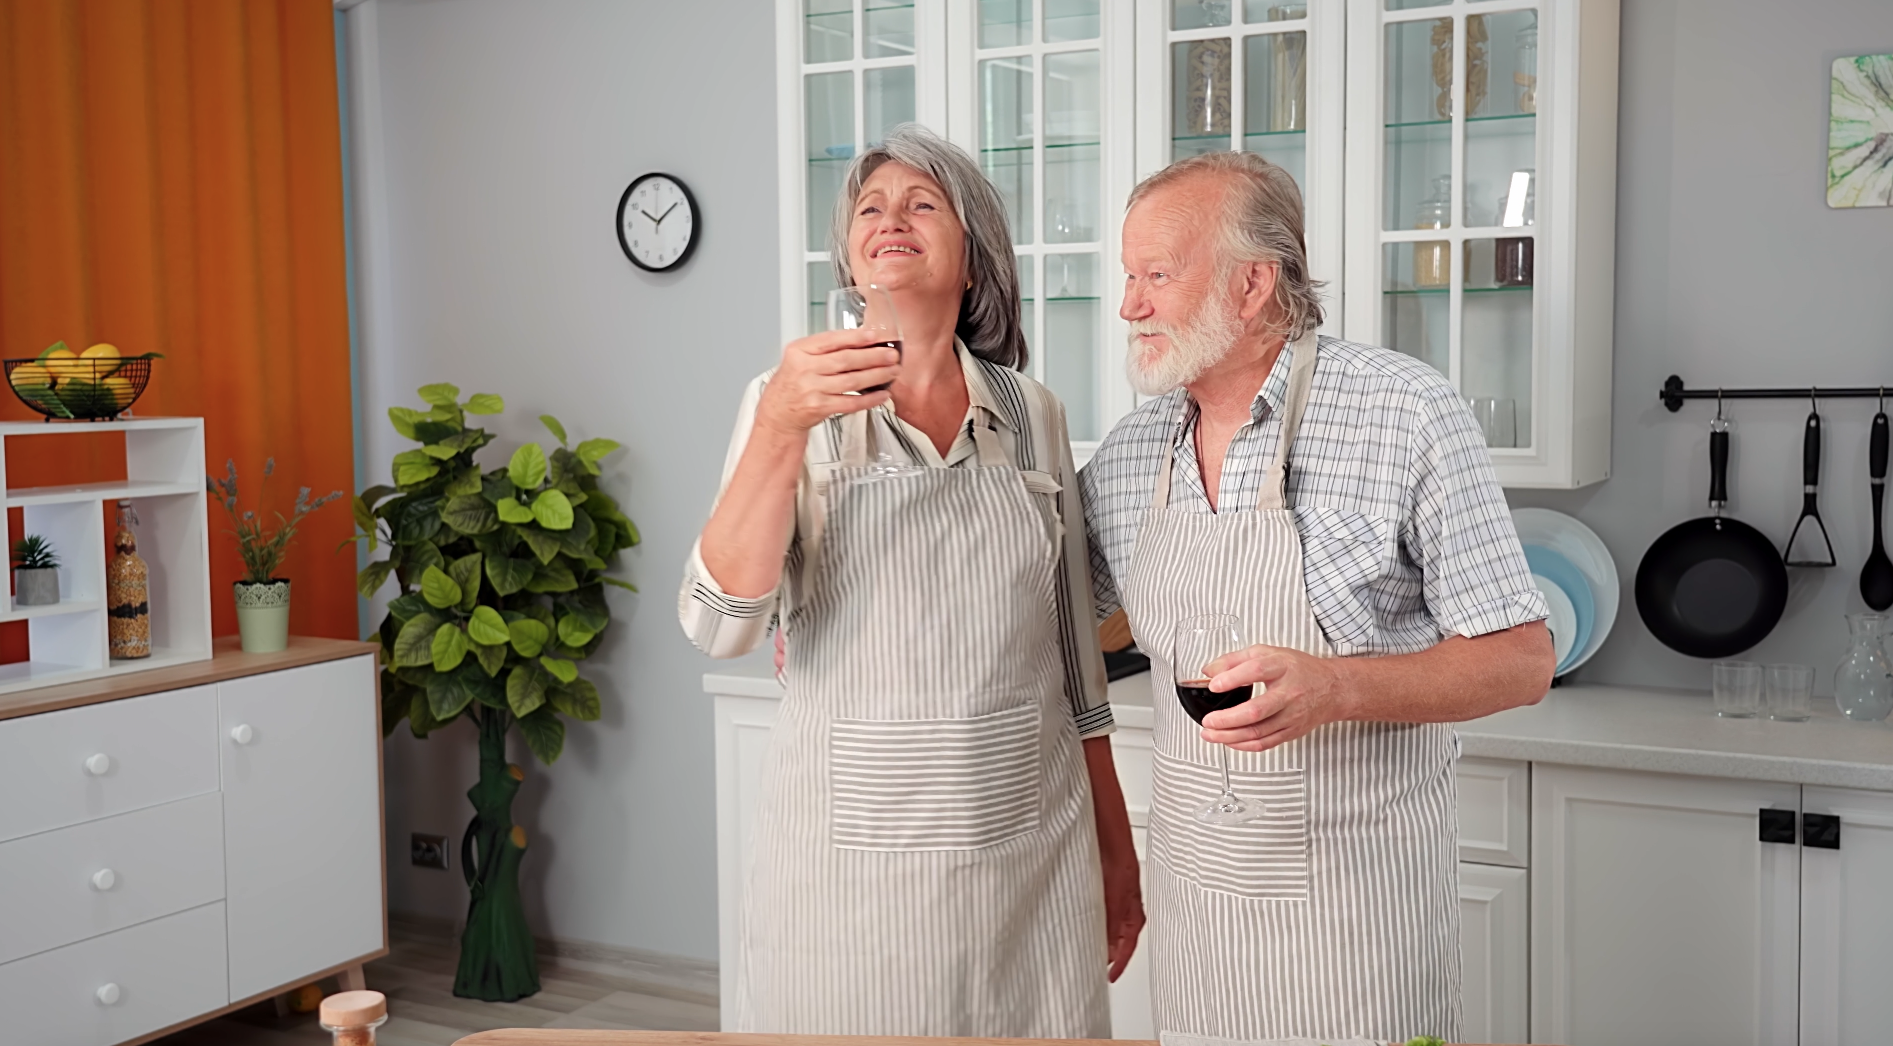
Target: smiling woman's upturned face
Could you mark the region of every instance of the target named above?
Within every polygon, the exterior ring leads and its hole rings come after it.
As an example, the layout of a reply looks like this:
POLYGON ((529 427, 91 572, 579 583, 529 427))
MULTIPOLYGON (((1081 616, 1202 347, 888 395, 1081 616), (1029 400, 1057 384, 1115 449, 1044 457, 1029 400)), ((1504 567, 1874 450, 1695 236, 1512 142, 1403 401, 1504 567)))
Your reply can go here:
POLYGON ((854 200, 848 265, 856 284, 958 299, 965 289, 965 227, 939 182, 890 161, 867 176, 854 200))

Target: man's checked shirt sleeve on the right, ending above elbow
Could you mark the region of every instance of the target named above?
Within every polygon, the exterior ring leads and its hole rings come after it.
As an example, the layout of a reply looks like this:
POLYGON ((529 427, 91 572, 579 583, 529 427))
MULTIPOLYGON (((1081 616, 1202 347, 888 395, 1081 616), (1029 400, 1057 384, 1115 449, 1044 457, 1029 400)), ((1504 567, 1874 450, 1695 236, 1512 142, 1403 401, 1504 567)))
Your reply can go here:
POLYGON ((1548 611, 1531 581, 1492 454, 1458 395, 1425 399, 1410 456, 1412 505, 1401 535, 1420 564, 1427 613, 1442 634, 1484 636, 1548 611))

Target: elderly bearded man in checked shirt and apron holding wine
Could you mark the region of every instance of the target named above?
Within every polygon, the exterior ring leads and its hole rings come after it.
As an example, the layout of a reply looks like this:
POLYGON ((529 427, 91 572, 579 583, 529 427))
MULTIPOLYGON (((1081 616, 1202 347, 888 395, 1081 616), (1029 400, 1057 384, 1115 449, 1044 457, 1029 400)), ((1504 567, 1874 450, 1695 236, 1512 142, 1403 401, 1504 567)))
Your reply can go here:
POLYGON ((1478 426, 1427 365, 1316 337, 1300 193, 1261 157, 1138 185, 1123 261, 1153 399, 1083 492, 1100 617, 1123 605, 1153 662, 1157 1027, 1454 1038, 1450 724, 1552 675, 1478 426), (1170 664, 1179 622, 1212 613, 1251 645, 1170 664), (1172 685, 1202 679, 1221 711, 1198 728, 1172 685))

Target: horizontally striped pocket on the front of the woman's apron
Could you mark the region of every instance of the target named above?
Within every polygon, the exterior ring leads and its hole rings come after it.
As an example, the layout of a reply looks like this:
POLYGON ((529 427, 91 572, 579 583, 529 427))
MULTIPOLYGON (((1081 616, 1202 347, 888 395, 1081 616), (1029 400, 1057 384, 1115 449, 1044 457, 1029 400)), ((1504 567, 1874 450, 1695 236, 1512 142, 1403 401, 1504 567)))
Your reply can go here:
POLYGON ((981 849, 1039 827, 1039 704, 975 719, 829 723, 840 849, 981 849))

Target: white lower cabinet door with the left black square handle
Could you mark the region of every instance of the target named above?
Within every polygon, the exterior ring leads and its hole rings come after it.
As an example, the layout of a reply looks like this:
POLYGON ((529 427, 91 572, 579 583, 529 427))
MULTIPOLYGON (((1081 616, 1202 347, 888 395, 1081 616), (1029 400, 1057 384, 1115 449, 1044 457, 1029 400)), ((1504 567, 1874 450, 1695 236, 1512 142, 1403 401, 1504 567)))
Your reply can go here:
POLYGON ((1531 1040, 1796 1042, 1800 785, 1533 766, 1531 1040), (1764 810, 1789 842, 1760 842, 1764 810))

